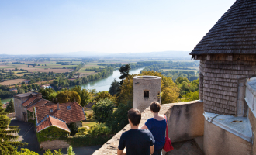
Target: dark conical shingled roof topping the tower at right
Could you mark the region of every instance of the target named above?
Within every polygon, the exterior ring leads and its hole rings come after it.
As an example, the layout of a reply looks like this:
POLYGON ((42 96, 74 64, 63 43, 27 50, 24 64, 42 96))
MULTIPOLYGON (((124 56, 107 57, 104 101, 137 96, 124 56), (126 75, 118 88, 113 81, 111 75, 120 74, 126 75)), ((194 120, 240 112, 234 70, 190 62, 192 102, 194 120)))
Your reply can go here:
POLYGON ((190 53, 201 54, 256 54, 256 1, 237 0, 190 53))

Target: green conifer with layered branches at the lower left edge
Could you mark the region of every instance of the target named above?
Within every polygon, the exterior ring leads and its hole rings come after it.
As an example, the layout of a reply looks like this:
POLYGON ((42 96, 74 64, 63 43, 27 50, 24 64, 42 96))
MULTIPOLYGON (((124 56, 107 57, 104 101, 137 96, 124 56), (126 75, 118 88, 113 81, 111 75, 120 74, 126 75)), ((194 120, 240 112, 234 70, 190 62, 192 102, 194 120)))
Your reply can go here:
POLYGON ((0 154, 9 155, 16 153, 16 146, 24 146, 26 143, 17 142, 19 139, 14 133, 19 132, 19 126, 9 126, 11 119, 7 117, 8 112, 2 108, 0 100, 0 154))

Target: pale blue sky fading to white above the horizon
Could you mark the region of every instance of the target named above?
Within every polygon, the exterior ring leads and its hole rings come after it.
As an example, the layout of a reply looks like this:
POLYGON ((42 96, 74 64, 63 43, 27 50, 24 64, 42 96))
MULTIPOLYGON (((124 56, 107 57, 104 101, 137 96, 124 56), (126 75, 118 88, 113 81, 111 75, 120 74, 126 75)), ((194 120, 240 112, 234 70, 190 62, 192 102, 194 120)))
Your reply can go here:
POLYGON ((191 51, 235 0, 0 0, 0 54, 191 51))

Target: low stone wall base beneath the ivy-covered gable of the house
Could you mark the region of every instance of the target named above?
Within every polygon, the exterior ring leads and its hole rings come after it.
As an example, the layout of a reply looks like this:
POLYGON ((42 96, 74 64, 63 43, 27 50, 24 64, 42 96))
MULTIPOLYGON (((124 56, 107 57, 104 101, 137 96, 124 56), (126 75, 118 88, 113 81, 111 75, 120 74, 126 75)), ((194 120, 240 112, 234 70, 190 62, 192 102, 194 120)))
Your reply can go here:
POLYGON ((40 143, 40 148, 42 148, 43 150, 57 150, 57 149, 61 149, 61 148, 67 148, 70 145, 64 141, 64 140, 52 140, 52 141, 44 141, 42 143, 40 143))

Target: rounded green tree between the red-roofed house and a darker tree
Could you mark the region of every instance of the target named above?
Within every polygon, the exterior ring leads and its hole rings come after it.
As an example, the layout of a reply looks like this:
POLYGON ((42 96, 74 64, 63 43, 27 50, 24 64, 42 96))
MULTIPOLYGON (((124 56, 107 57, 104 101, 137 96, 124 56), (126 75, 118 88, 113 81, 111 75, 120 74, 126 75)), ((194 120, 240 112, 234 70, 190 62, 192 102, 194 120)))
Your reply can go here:
POLYGON ((99 122, 105 122, 108 115, 112 114, 114 108, 115 105, 109 98, 100 99, 99 102, 92 106, 93 114, 99 122))

